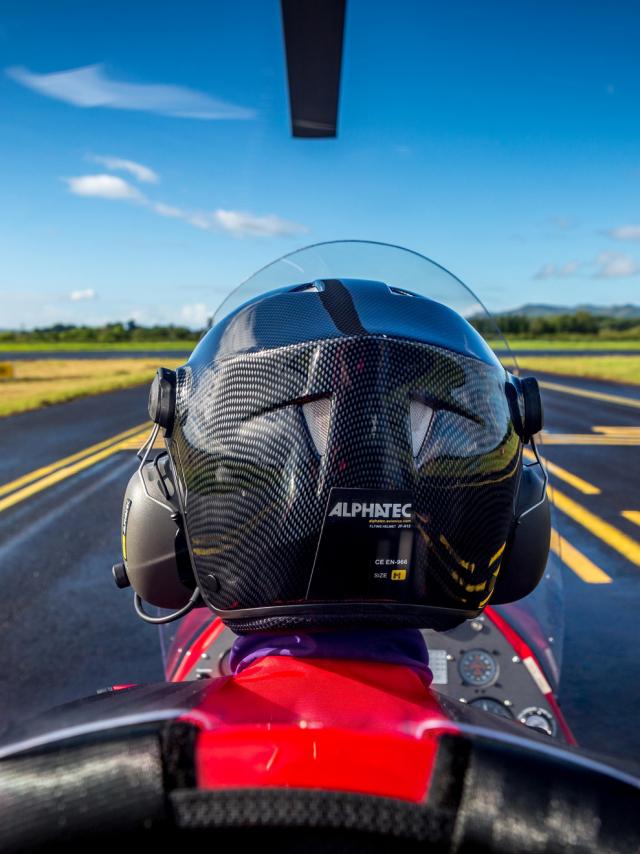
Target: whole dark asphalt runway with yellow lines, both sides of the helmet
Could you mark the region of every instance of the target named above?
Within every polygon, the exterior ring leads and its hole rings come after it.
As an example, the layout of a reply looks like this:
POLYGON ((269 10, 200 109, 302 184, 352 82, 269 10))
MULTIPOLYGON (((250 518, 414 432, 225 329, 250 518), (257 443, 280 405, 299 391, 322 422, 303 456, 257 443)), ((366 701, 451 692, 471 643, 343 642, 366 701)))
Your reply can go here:
MULTIPOLYGON (((640 388, 538 376, 566 596, 560 701, 585 747, 638 759, 640 388)), ((0 419, 4 723, 162 678, 157 628, 111 577, 146 397, 128 389, 0 419)))

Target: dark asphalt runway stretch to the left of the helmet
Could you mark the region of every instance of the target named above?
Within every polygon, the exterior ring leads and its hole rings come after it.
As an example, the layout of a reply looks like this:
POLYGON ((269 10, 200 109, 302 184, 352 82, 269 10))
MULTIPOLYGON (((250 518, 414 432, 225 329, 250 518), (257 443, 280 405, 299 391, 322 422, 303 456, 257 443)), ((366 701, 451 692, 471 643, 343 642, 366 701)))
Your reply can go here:
POLYGON ((52 463, 145 426, 146 396, 127 389, 0 419, 0 484, 45 469, 11 492, 0 486, 3 723, 101 687, 162 679, 158 630, 135 617, 131 593, 111 577, 134 453, 100 457, 99 448, 94 464, 46 485, 52 463))

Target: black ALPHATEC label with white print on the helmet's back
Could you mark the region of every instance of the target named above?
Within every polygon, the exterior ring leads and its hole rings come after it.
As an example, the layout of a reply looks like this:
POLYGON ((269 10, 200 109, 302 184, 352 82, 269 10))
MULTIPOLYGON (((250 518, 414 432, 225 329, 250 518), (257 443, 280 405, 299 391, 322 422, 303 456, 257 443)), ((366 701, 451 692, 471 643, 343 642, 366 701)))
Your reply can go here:
POLYGON ((406 601, 413 539, 410 492, 332 489, 307 598, 406 601))

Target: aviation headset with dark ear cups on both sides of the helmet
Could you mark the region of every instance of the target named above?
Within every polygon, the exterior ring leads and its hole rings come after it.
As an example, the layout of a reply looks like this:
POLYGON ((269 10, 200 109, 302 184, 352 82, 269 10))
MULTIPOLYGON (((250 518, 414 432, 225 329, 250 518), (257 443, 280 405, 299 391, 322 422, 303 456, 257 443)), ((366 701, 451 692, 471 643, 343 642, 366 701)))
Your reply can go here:
MULTIPOLYGON (((535 462, 523 463, 515 493, 513 517, 502 568, 492 604, 513 602, 531 593, 542 578, 550 543, 548 476, 540 460, 535 435, 543 426, 543 407, 537 380, 506 373, 504 386, 514 429, 523 445, 531 444, 535 462)), ((204 605, 189 554, 180 496, 166 451, 150 458, 160 429, 171 438, 176 406, 176 373, 159 368, 149 394, 151 436, 139 452, 140 466, 127 486, 122 510, 123 562, 113 567, 118 587, 133 587, 134 605, 150 623, 176 620, 204 605), (163 609, 151 617, 142 600, 163 609)))

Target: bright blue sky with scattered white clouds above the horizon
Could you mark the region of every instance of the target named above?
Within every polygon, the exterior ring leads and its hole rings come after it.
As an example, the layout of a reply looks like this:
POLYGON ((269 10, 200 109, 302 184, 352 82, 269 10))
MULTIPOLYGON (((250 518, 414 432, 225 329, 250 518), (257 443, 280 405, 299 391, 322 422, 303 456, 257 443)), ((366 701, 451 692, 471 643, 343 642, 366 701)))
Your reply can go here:
POLYGON ((276 0, 5 0, 0 327, 198 324, 349 237, 495 310, 640 302, 638 32, 635 3, 349 0, 339 136, 309 141, 276 0))

